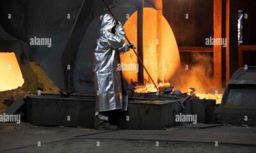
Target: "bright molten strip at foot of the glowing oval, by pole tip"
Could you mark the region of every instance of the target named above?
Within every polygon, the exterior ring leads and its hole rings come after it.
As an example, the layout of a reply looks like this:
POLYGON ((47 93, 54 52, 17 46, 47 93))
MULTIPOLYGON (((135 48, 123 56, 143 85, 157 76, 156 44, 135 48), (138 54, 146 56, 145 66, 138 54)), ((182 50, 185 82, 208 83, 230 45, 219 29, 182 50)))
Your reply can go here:
MULTIPOLYGON (((159 91, 163 91, 164 88, 170 87, 170 83, 159 83, 156 85, 159 91)), ((146 85, 139 85, 135 87, 134 92, 156 92, 157 89, 154 84, 147 83, 146 85)))

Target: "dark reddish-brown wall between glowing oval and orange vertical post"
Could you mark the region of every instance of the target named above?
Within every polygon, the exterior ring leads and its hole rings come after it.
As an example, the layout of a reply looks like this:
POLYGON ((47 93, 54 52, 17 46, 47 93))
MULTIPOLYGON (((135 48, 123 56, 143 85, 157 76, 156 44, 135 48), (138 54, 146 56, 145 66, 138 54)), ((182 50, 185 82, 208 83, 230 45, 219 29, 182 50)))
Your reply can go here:
POLYGON ((213 0, 163 0, 163 15, 178 46, 205 47, 205 38, 213 36, 213 0))

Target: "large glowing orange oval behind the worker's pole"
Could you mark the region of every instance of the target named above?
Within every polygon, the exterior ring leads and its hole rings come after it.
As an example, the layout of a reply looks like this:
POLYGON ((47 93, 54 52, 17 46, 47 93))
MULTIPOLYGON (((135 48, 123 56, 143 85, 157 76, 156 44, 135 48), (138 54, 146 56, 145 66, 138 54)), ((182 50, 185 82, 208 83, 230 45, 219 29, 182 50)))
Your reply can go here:
MULTIPOLYGON (((137 18, 136 11, 125 22, 125 34, 135 46, 137 46, 137 18)), ((162 16, 162 51, 157 52, 157 10, 153 8, 143 9, 143 64, 148 69, 154 82, 169 82, 177 68, 180 66, 180 57, 177 43, 172 28, 162 16), (161 60, 159 55, 164 55, 161 60), (161 68, 161 69, 159 69, 161 68), (161 73, 159 73, 161 72, 161 73)), ((138 59, 133 51, 127 52, 120 57, 127 64, 137 64, 138 59)), ((125 80, 130 84, 138 82, 138 73, 135 71, 123 71, 125 80)), ((145 82, 150 82, 144 71, 145 82)), ((146 90, 146 89, 145 89, 146 90)), ((156 89, 152 89, 155 91, 156 89)), ((147 91, 147 90, 146 90, 147 91)))

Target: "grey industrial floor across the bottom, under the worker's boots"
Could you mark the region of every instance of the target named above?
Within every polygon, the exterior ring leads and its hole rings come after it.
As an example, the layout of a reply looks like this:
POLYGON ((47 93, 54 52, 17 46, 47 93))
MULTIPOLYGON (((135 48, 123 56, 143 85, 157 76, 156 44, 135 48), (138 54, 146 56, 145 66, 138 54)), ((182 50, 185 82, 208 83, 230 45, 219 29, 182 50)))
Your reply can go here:
POLYGON ((97 131, 1 123, 0 152, 256 152, 255 131, 248 126, 205 124, 97 131))

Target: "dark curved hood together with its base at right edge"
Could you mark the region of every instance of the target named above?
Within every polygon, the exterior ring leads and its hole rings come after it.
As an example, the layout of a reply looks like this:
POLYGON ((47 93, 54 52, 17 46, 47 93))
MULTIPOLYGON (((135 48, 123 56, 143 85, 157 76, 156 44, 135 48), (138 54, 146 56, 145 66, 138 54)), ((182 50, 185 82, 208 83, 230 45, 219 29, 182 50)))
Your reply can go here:
POLYGON ((240 68, 234 73, 215 116, 219 123, 256 125, 256 67, 240 68))

